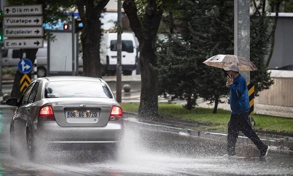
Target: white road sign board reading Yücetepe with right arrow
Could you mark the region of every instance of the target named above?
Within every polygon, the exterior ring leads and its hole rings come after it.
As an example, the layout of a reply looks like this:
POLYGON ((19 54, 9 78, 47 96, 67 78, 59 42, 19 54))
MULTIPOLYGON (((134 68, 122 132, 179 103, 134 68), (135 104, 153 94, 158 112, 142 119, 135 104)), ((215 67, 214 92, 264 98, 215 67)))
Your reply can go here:
POLYGON ((5 16, 3 26, 42 26, 43 16, 5 16))

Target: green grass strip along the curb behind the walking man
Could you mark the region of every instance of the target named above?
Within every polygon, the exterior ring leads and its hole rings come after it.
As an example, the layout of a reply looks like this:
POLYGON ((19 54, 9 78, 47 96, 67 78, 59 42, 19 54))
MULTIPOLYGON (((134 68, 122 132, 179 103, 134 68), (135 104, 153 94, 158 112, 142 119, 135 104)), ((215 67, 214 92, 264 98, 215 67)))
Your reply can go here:
MULTIPOLYGON (((123 111, 137 112, 139 103, 121 103, 120 105, 123 111)), ((212 109, 209 108, 197 107, 189 111, 182 108, 180 104, 159 103, 159 114, 164 117, 175 117, 178 119, 212 123, 212 126, 200 129, 227 130, 227 123, 231 112, 219 109, 217 114, 213 114, 212 109)), ((293 133, 292 118, 259 114, 253 114, 252 117, 256 122, 255 129, 293 133)))

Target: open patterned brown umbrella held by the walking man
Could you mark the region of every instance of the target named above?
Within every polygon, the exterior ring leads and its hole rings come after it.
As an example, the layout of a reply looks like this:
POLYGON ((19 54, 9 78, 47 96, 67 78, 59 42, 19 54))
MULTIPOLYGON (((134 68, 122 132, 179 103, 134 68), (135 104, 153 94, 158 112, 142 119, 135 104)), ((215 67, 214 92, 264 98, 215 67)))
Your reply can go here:
POLYGON ((245 57, 240 57, 237 55, 215 55, 203 62, 206 65, 218 68, 228 67, 230 64, 237 64, 239 70, 254 71, 257 67, 245 57))

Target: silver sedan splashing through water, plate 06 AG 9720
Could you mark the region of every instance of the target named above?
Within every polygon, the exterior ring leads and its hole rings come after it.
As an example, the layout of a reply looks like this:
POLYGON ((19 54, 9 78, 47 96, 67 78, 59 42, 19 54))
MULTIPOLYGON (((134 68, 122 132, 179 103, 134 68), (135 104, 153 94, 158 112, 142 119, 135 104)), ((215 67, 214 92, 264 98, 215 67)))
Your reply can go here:
POLYGON ((93 77, 43 77, 34 80, 17 106, 10 124, 10 151, 21 145, 28 158, 48 150, 117 152, 124 128, 121 106, 108 84, 93 77))

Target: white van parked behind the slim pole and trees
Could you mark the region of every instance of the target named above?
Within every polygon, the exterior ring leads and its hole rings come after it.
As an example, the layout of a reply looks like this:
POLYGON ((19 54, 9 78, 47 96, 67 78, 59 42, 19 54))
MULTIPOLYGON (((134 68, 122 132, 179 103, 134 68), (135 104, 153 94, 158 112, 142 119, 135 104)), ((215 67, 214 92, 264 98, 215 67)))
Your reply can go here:
MULTIPOLYGON (((136 68, 137 46, 133 33, 122 33, 121 65, 123 75, 131 75, 136 68)), ((117 65, 117 33, 105 33, 101 38, 100 62, 105 73, 114 73, 117 65)))

